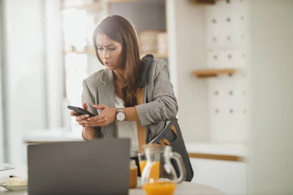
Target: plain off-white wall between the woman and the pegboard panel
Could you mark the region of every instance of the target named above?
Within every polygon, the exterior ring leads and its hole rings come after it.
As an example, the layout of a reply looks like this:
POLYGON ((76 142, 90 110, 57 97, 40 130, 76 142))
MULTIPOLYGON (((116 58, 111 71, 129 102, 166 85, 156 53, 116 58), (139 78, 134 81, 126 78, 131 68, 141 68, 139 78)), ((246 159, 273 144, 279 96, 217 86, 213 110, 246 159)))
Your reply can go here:
POLYGON ((207 81, 191 72, 206 65, 206 12, 188 0, 167 0, 169 72, 179 104, 179 124, 186 142, 207 141, 207 81))

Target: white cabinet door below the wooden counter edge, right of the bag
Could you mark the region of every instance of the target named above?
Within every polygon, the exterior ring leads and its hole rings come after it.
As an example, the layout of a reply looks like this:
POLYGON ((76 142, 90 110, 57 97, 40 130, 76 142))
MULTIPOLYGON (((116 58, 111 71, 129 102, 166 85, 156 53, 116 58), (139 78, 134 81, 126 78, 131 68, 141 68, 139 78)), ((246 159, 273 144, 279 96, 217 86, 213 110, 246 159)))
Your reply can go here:
POLYGON ((191 182, 217 188, 226 195, 247 195, 247 163, 191 158, 191 182))

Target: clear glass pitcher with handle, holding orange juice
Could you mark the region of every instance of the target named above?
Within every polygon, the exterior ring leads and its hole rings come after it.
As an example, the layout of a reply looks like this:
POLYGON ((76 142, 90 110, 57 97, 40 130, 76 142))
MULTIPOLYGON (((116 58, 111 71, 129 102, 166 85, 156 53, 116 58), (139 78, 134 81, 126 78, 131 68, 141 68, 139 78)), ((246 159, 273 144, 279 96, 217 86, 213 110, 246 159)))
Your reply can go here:
POLYGON ((142 173, 142 186, 146 195, 172 195, 176 184, 186 179, 186 168, 180 154, 172 152, 170 146, 148 144, 144 146, 146 166, 142 173), (177 177, 171 159, 176 161, 179 169, 177 177))

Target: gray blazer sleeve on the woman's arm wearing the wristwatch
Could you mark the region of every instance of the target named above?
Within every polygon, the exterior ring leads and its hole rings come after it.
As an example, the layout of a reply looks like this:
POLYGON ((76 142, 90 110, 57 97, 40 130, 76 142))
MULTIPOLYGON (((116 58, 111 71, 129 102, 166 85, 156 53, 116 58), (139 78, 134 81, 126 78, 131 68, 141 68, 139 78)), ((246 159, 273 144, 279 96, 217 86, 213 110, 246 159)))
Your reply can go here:
POLYGON ((168 78, 165 60, 157 62, 153 85, 153 101, 135 106, 142 126, 171 120, 178 112, 178 104, 173 85, 168 78))

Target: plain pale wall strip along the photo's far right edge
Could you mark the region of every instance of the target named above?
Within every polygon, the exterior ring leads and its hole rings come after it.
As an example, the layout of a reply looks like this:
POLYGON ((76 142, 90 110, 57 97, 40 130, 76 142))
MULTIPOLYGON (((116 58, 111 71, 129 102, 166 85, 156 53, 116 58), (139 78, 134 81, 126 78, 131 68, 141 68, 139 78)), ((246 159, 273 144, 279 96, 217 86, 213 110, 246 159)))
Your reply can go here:
POLYGON ((251 1, 251 195, 293 194, 293 1, 251 1))

